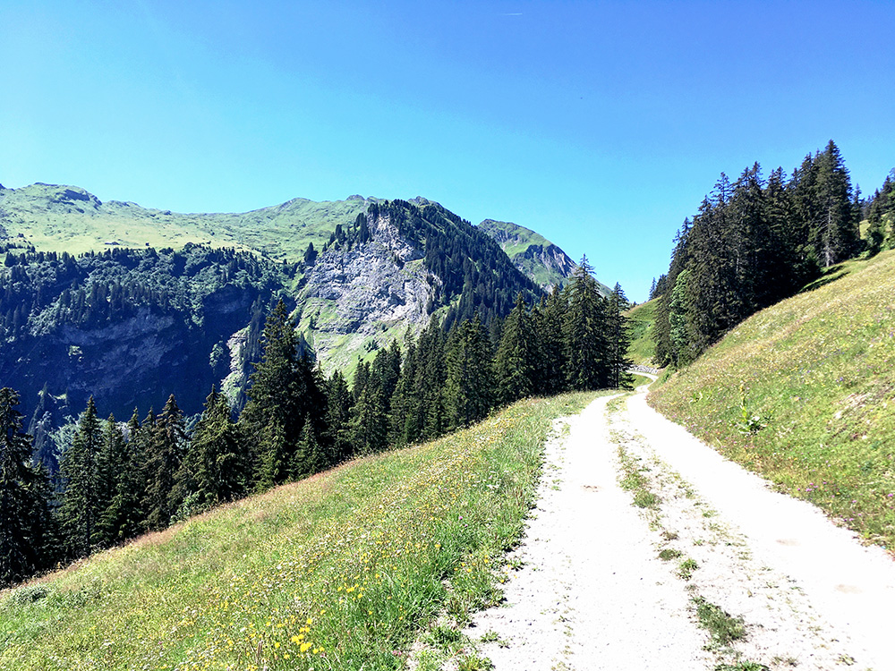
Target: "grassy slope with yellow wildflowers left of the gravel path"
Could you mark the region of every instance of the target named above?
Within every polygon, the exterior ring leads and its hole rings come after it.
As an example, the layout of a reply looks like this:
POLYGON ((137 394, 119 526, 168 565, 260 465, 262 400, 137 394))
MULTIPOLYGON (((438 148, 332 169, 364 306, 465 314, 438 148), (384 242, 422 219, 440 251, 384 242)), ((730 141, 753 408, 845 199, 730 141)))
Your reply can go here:
POLYGON ((516 403, 7 592, 0 668, 401 668, 439 611, 498 598, 543 439, 590 398, 516 403))

